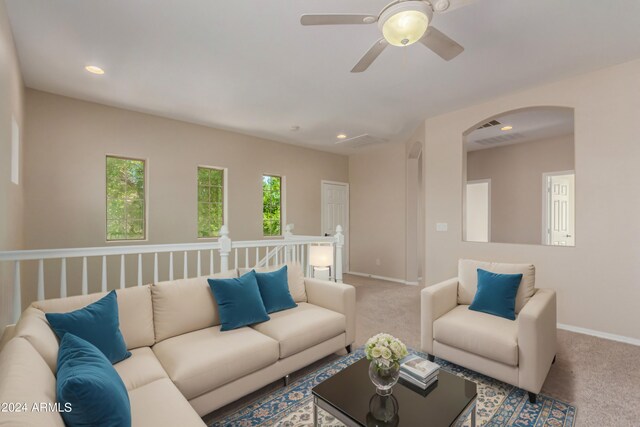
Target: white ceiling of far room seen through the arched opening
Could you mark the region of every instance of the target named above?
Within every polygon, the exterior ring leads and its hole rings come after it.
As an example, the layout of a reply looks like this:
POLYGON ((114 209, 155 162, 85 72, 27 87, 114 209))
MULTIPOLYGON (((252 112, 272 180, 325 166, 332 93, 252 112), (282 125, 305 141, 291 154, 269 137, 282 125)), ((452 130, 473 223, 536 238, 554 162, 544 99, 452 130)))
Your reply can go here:
POLYGON ((465 136, 467 151, 521 144, 574 133, 573 109, 566 107, 527 108, 501 114, 491 120, 497 120, 500 124, 475 129, 465 136), (505 126, 511 126, 512 129, 503 131, 502 128, 505 126))

